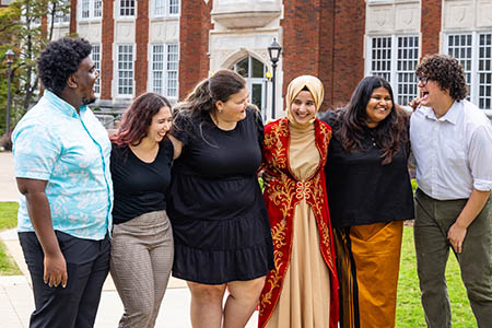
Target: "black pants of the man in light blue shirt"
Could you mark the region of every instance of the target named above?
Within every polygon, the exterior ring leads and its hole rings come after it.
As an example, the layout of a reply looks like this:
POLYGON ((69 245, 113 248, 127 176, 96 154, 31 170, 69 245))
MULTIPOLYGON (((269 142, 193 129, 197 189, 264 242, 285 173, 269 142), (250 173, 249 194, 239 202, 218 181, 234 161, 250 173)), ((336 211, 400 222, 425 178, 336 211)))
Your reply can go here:
POLYGON ((33 280, 35 311, 31 328, 92 328, 109 270, 109 237, 91 241, 56 231, 67 262, 68 281, 50 288, 43 281, 44 253, 34 232, 19 233, 33 280))

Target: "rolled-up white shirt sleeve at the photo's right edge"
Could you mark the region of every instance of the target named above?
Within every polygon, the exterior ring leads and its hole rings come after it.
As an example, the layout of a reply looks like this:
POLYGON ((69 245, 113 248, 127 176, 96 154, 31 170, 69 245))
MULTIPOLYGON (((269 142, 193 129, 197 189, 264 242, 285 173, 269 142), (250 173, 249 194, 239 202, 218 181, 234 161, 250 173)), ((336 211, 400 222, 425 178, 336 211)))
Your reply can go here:
POLYGON ((492 126, 478 127, 470 140, 468 152, 473 188, 480 191, 492 190, 492 126))

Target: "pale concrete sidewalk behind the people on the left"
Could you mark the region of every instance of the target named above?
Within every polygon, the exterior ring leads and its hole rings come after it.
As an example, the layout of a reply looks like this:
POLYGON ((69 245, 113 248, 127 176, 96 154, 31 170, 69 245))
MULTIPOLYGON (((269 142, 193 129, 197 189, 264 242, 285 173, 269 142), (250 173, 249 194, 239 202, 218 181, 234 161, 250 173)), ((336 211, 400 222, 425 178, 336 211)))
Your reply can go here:
MULTIPOLYGON (((19 191, 13 175, 13 159, 10 152, 0 152, 0 201, 17 201, 19 191)), ((15 230, 0 233, 0 239, 20 267, 23 276, 0 276, 0 327, 27 328, 34 298, 31 279, 24 261, 15 230)), ((167 285, 156 328, 190 328, 190 294, 183 280, 172 278, 167 285)), ((117 327, 122 314, 122 304, 110 276, 103 288, 103 295, 96 316, 96 328, 117 327)), ((258 326, 258 312, 249 320, 247 328, 258 326)))

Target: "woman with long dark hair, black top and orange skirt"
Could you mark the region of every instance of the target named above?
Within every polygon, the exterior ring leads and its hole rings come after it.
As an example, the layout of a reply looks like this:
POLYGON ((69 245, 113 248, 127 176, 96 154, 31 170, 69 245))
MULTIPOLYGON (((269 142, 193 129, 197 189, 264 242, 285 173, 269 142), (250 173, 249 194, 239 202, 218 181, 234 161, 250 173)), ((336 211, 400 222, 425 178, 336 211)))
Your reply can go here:
POLYGON ((414 216, 408 115, 387 81, 368 77, 324 120, 341 327, 395 327, 402 221, 414 216))

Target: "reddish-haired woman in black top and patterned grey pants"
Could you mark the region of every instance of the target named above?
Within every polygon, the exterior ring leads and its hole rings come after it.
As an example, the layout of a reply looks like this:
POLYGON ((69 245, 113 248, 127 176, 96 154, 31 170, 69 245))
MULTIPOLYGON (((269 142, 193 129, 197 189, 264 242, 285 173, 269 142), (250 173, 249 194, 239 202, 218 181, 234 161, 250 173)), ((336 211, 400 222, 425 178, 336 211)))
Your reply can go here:
POLYGON ((125 306, 119 327, 152 328, 173 266, 173 232, 165 192, 173 143, 169 102, 139 96, 112 137, 115 201, 110 272, 125 306))

